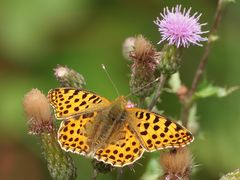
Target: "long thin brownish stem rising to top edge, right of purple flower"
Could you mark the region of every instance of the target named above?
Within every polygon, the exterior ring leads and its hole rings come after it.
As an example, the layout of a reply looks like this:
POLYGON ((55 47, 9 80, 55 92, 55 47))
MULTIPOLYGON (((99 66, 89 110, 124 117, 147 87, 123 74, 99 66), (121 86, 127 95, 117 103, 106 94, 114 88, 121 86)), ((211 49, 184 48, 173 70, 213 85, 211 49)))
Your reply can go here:
MULTIPOLYGON (((223 11, 223 1, 218 0, 218 5, 217 5, 216 12, 215 12, 214 22, 213 22, 212 28, 211 28, 211 30, 209 32, 209 36, 208 36, 209 38, 211 38, 212 35, 216 34, 218 25, 221 21, 222 11, 223 11)), ((198 65, 198 68, 196 70, 196 73, 194 75, 191 89, 189 90, 186 98, 183 101, 183 110, 182 110, 181 120, 182 120, 182 123, 184 126, 187 126, 187 123, 188 123, 189 111, 193 104, 193 95, 197 89, 198 84, 200 83, 200 81, 202 79, 202 75, 203 75, 204 69, 207 64, 211 44, 212 44, 212 41, 208 41, 208 43, 205 47, 204 53, 202 55, 202 58, 200 60, 200 63, 198 65)))

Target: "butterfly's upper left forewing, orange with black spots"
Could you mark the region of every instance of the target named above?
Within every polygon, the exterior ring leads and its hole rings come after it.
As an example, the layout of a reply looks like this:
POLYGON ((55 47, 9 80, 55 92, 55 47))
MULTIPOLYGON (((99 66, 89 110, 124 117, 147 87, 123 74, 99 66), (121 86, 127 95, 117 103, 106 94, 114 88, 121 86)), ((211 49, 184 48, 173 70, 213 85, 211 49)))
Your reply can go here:
POLYGON ((48 93, 50 104, 58 119, 99 111, 110 101, 97 94, 74 88, 56 88, 48 93))

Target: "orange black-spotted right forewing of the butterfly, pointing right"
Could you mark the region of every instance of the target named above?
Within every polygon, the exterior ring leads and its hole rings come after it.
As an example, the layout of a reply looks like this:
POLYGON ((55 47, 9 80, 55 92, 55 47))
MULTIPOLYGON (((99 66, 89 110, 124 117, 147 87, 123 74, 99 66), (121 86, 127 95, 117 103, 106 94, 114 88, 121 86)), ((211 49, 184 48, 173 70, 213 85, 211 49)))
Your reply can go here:
POLYGON ((147 151, 183 147, 193 141, 186 128, 159 114, 127 108, 128 123, 147 151))

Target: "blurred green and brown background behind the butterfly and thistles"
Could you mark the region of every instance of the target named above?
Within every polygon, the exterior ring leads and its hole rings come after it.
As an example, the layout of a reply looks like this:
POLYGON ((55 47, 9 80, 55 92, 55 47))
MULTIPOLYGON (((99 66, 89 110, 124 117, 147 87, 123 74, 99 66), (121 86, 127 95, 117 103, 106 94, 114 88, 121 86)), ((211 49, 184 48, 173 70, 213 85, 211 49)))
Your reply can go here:
MULTIPOLYGON (((53 68, 67 65, 79 71, 87 89, 109 99, 116 93, 101 68, 105 64, 121 94, 129 92, 129 63, 122 56, 126 37, 143 34, 157 46, 160 35, 153 20, 165 6, 192 7, 202 12, 210 29, 215 0, 1 0, 0 1, 0 175, 1 179, 51 179, 41 156, 38 138, 29 136, 22 100, 32 88, 45 94, 57 87, 53 68)), ((240 3, 230 4, 212 47, 207 78, 220 86, 240 84, 240 3)), ((190 85, 204 48, 184 51, 181 77, 190 85)), ((198 167, 192 179, 217 179, 240 166, 240 92, 201 100, 201 136, 191 145, 198 167)), ((164 94, 165 114, 178 117, 180 104, 164 94)), ((78 179, 90 179, 90 160, 73 155, 78 179)), ((147 155, 146 155, 147 157, 147 155)), ((139 179, 145 169, 136 165, 125 178, 139 179)), ((115 174, 99 179, 114 179, 115 174)))

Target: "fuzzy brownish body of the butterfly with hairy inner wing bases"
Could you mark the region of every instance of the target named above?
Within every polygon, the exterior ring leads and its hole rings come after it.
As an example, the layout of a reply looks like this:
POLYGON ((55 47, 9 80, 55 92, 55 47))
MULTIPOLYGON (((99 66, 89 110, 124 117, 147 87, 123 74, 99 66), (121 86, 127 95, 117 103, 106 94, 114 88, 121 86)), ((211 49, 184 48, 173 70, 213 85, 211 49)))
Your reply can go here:
POLYGON ((86 129, 89 152, 95 152, 99 148, 124 139, 126 116, 125 101, 122 101, 121 97, 111 106, 98 112, 93 124, 89 124, 86 129))

